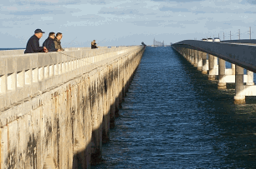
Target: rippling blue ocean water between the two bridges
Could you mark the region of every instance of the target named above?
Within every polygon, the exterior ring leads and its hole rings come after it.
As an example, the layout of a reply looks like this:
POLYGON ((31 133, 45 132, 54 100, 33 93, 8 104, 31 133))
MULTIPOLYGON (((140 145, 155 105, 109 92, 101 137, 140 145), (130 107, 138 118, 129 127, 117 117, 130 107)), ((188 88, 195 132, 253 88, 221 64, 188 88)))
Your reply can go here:
POLYGON ((217 87, 172 47, 146 47, 91 168, 256 167, 256 97, 235 105, 234 85, 217 87))

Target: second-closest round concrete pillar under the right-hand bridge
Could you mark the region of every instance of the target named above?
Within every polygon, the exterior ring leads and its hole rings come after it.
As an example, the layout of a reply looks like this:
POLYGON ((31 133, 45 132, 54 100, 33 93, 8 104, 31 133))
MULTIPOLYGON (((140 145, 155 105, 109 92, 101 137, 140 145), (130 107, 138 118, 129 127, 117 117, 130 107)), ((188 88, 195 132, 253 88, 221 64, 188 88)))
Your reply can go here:
POLYGON ((221 58, 218 58, 218 89, 226 89, 225 82, 225 61, 221 58))

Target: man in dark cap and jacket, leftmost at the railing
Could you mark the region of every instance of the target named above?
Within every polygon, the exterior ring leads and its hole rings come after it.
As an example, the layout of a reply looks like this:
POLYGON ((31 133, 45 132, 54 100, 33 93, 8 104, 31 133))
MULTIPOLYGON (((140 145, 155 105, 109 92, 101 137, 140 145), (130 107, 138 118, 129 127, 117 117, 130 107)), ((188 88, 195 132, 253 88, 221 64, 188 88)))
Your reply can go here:
POLYGON ((48 52, 46 47, 39 47, 39 39, 43 37, 43 31, 36 29, 34 35, 28 39, 27 47, 24 53, 48 52))

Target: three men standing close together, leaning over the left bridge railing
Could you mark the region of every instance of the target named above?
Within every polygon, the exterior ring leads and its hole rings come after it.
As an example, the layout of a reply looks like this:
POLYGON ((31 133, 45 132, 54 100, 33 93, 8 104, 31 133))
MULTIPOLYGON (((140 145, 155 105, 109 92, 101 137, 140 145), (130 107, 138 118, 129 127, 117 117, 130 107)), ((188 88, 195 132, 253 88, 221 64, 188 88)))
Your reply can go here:
POLYGON ((43 37, 43 32, 41 29, 36 29, 32 37, 28 39, 26 50, 24 53, 33 52, 60 52, 64 51, 61 47, 62 33, 58 32, 55 36, 54 32, 49 32, 49 37, 44 41, 43 47, 39 46, 39 39, 43 37))

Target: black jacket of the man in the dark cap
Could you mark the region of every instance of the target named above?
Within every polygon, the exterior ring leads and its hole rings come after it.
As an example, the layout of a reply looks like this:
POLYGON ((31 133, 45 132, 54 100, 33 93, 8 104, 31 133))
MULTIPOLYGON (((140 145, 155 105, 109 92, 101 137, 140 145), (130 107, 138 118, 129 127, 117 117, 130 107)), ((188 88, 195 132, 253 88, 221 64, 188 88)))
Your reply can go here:
POLYGON ((44 47, 39 47, 39 38, 33 35, 28 39, 27 47, 24 53, 44 52, 44 47))

